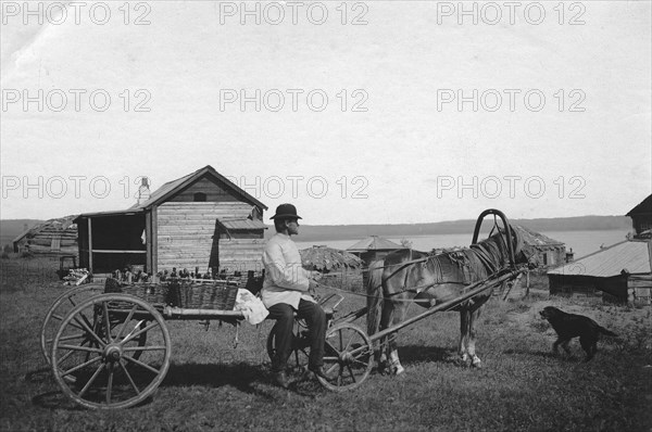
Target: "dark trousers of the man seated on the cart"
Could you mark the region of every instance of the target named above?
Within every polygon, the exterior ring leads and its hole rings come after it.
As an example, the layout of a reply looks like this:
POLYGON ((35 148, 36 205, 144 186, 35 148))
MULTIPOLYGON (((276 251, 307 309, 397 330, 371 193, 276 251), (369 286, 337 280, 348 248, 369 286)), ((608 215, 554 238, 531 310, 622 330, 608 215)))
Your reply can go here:
MULTIPOLYGON (((272 370, 280 372, 285 370, 286 364, 292 354, 292 327, 294 325, 294 309, 287 303, 277 303, 267 308, 268 319, 275 319, 276 323, 272 329, 275 332, 276 355, 272 359, 272 370)), ((324 342, 326 339, 326 314, 316 303, 306 300, 299 301, 299 310, 297 318, 304 319, 308 323, 310 335, 310 358, 308 367, 310 369, 324 365, 324 342)))

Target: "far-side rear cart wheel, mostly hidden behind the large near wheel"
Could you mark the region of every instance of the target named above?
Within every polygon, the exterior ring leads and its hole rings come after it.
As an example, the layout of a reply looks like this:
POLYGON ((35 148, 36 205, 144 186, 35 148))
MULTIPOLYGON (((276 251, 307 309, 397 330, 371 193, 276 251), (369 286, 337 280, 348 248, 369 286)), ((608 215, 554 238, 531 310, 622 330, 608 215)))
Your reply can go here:
POLYGON ((48 365, 51 365, 52 341, 57 335, 57 331, 59 331, 63 318, 79 303, 93 295, 101 294, 103 291, 103 283, 84 284, 67 290, 52 303, 48 314, 46 314, 40 334, 41 352, 48 365))

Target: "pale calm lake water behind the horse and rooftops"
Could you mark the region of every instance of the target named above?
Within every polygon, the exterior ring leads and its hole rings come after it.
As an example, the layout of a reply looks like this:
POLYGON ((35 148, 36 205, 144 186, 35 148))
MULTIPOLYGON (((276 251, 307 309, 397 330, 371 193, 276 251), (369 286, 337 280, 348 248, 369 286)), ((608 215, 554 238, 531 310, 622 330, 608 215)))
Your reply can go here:
MULTIPOLYGON (((625 240, 628 230, 591 230, 591 231, 548 231, 541 232, 551 239, 566 244, 566 251, 573 249, 575 259, 600 250, 600 246, 610 246, 625 240)), ((430 251, 435 247, 468 246, 473 233, 469 234, 438 234, 438 236, 411 236, 405 239, 412 242, 412 247, 417 251, 430 251)), ((480 238, 482 236, 480 234, 480 238)), ((326 240, 317 242, 302 242, 301 236, 294 238, 299 249, 311 247, 315 244, 327 245, 334 249, 346 250, 361 239, 326 240)), ((388 238, 400 243, 402 238, 388 238)))

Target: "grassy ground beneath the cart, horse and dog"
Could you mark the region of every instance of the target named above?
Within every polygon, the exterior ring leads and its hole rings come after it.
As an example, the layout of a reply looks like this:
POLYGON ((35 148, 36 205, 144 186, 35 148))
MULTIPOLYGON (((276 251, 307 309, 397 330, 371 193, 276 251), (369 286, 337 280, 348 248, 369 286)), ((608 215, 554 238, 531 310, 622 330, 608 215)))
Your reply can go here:
MULTIPOLYGON (((64 287, 55 264, 3 259, 0 287, 2 431, 650 431, 652 318, 628 309, 538 295, 493 300, 480 318, 482 369, 455 363, 456 314, 436 314, 401 332, 406 372, 373 373, 359 389, 330 393, 313 381, 272 383, 271 322, 234 328, 168 321, 172 366, 153 398, 129 409, 80 408, 59 390, 39 348, 40 326, 64 287), (553 356, 543 306, 593 317, 618 333, 584 364, 553 356)), ((539 281, 541 284, 542 281, 539 281)), ((539 285, 539 288, 544 288, 539 285)), ((350 296, 343 308, 360 307, 350 296)), ((418 310, 413 310, 414 313, 418 310)), ((360 322, 365 327, 364 322, 360 322)))

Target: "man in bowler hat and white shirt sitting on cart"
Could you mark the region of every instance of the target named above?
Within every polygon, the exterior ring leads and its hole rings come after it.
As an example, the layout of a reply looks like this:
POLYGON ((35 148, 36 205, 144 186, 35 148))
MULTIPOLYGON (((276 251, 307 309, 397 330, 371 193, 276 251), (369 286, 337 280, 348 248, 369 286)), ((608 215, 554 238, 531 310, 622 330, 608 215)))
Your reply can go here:
POLYGON ((272 359, 272 371, 276 382, 287 389, 290 384, 286 376, 286 365, 292 353, 292 329, 294 314, 308 323, 310 358, 308 368, 316 376, 326 378, 324 372, 324 342, 326 335, 326 315, 324 309, 310 295, 317 287, 321 277, 317 271, 308 271, 301 267, 301 256, 290 238, 299 233, 297 208, 292 204, 276 207, 274 219, 276 234, 269 239, 263 253, 265 279, 261 295, 268 318, 275 319, 272 329, 275 332, 276 352, 272 359))

